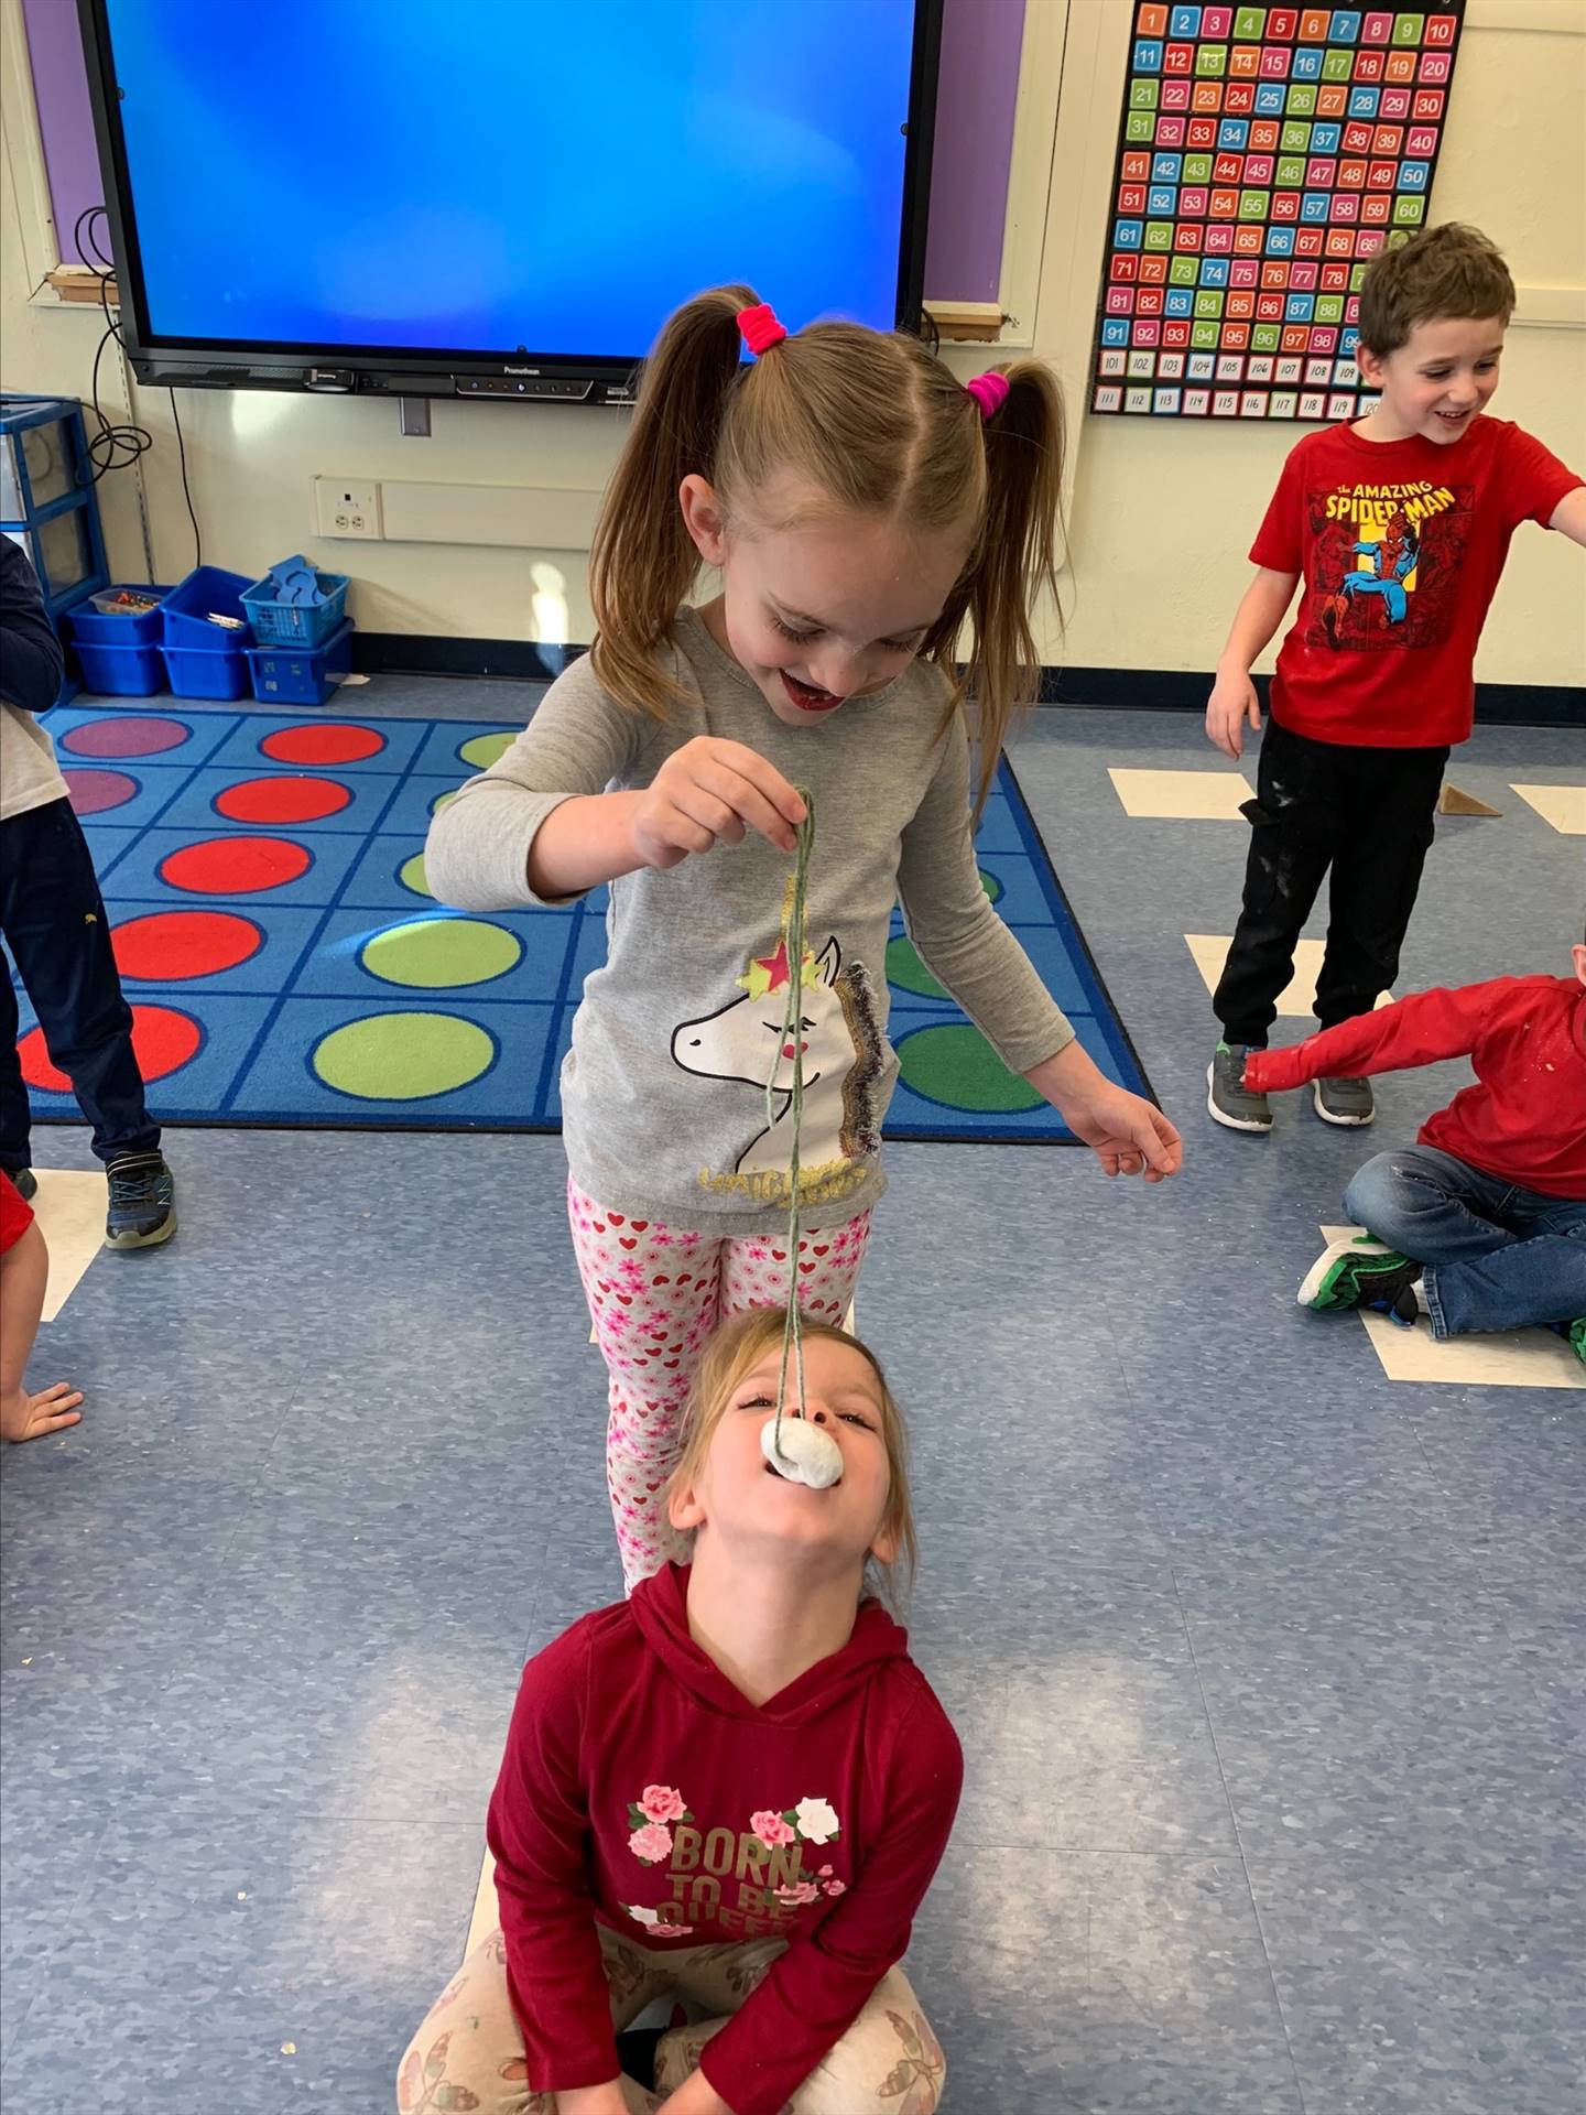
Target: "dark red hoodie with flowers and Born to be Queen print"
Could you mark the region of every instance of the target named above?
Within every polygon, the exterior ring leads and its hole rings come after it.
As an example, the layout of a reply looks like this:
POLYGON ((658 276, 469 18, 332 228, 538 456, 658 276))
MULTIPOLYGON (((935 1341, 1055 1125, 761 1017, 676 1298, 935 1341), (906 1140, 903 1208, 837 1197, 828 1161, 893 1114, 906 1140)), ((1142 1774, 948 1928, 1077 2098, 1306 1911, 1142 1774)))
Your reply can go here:
POLYGON ((751 1705, 687 1586, 670 1565, 522 1671, 488 1821, 508 1986, 529 2085, 571 2092, 617 2071, 596 1923, 658 1950, 787 1937, 702 2060, 734 2115, 780 2115, 905 1952, 964 1762, 880 1603, 751 1705))

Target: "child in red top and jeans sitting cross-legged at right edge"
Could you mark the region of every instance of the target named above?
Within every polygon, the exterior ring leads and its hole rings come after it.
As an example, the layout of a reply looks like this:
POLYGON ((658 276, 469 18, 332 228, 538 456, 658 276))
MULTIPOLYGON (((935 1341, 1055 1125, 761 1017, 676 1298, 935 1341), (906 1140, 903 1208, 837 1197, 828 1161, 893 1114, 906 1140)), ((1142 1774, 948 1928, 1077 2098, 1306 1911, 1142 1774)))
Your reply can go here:
POLYGON ((1476 1085, 1417 1144, 1356 1174, 1334 1242, 1301 1284, 1317 1313, 1375 1307, 1434 1337, 1548 1324, 1586 1362, 1586 945, 1573 977, 1495 977, 1419 992, 1286 1051, 1250 1051, 1256 1093, 1322 1074, 1470 1058, 1476 1085))

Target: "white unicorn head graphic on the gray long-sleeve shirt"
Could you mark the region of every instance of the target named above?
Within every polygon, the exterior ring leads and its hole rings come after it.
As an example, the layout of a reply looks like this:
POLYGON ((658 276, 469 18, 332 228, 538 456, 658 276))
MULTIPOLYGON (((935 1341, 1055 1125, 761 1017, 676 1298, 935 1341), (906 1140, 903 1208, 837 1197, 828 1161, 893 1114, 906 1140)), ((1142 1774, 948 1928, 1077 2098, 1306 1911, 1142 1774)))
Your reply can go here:
MULTIPOLYGON (((833 933, 825 948, 806 950, 797 967, 797 1045, 785 1034, 789 981, 795 969, 787 935, 766 956, 751 956, 738 977, 740 996, 715 1013, 683 1022, 672 1034, 672 1062, 700 1079, 732 1079, 770 1089, 774 1119, 751 1138, 732 1174, 704 1172, 711 1189, 761 1189, 776 1195, 776 1176, 787 1195, 793 1146, 793 1060, 804 1060, 804 1129, 799 1161, 808 1184, 823 1187, 835 1174, 878 1151, 871 1085, 880 1074, 882 1038, 869 977, 863 964, 844 967, 833 933), (770 1178, 757 1182, 755 1178, 770 1178)), ((854 1187, 863 1172, 852 1167, 854 1187)), ((806 1187, 806 1184, 801 1184, 806 1187)))

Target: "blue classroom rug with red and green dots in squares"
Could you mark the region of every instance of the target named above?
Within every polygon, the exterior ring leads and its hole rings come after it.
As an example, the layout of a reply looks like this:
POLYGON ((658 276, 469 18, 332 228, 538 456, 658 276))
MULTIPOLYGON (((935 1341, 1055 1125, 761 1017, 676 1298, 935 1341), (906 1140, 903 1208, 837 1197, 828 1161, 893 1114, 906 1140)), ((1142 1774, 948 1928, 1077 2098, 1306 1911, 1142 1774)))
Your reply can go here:
MULTIPOLYGON (((554 1132, 605 890, 474 916, 425 888, 429 816, 501 721, 61 706, 47 715, 110 912, 161 1123, 554 1132)), ((1081 1041, 1150 1093, 1011 766, 977 838, 988 895, 1081 1041)), ((895 920, 888 1138, 1074 1144, 895 920)), ((78 1121, 19 992, 36 1117, 78 1121)))

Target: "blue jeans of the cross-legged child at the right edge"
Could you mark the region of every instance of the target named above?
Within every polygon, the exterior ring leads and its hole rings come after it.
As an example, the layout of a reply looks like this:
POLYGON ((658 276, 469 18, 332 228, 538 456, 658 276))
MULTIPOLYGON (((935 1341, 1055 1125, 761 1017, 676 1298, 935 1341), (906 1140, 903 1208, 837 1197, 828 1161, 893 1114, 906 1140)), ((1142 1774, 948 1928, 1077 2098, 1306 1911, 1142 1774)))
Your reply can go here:
POLYGON ((1544 1197, 1436 1146, 1358 1170, 1343 1208, 1425 1265, 1434 1337, 1586 1316, 1586 1199, 1544 1197))

